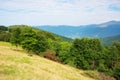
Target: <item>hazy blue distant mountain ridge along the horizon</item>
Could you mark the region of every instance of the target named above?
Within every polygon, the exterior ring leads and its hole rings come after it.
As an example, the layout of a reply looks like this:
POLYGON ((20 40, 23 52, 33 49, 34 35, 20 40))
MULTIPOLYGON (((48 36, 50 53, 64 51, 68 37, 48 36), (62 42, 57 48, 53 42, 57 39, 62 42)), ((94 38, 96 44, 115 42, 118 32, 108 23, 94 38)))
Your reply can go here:
POLYGON ((120 34, 120 21, 110 21, 102 24, 91 24, 83 26, 35 26, 36 28, 53 32, 69 38, 82 37, 108 37, 120 34))

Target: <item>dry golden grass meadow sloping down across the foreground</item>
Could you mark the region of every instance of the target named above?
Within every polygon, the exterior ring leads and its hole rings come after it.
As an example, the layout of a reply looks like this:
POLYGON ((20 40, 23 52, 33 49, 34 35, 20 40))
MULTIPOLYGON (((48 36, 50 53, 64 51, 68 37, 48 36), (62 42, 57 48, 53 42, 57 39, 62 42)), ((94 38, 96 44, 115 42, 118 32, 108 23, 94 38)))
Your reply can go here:
POLYGON ((14 50, 9 43, 0 42, 0 80, 94 80, 68 65, 14 50))

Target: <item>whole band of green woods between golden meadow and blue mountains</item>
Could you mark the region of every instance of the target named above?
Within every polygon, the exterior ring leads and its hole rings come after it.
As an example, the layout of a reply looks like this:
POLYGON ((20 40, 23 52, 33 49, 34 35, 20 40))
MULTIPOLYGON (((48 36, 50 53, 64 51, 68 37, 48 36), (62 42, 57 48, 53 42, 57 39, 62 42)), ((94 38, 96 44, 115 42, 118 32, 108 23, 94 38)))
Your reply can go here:
POLYGON ((120 80, 120 42, 103 46, 97 38, 65 38, 27 25, 0 26, 0 41, 78 69, 97 70, 120 80))

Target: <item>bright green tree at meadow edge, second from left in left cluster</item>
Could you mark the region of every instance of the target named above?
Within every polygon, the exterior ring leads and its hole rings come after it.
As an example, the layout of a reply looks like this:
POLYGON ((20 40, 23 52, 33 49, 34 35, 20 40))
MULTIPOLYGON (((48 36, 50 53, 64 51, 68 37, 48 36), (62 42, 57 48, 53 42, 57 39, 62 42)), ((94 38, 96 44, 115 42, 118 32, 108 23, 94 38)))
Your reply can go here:
POLYGON ((35 35, 35 32, 29 27, 26 27, 21 32, 21 45, 28 53, 33 50, 33 46, 36 45, 37 40, 35 39, 35 35))

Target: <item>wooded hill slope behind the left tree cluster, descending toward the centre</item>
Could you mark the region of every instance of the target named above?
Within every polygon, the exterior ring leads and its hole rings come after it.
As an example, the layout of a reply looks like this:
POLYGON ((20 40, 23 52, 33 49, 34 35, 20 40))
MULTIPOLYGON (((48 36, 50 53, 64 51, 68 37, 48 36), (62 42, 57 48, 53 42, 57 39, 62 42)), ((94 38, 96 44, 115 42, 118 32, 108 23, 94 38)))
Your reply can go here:
POLYGON ((47 38, 51 38, 51 39, 54 39, 54 40, 60 39, 61 41, 67 41, 67 42, 72 42, 73 41, 71 38, 67 38, 67 37, 64 37, 64 36, 61 36, 61 35, 58 35, 58 34, 55 34, 55 33, 52 33, 52 32, 44 31, 44 30, 41 30, 41 29, 38 30, 34 27, 30 27, 30 26, 27 26, 27 25, 12 25, 12 26, 9 26, 9 27, 0 25, 0 41, 9 42, 10 37, 11 37, 11 32, 16 27, 19 27, 22 30, 26 29, 27 27, 32 28, 35 31, 38 31, 38 34, 44 34, 47 38))

